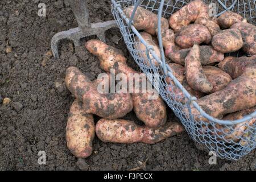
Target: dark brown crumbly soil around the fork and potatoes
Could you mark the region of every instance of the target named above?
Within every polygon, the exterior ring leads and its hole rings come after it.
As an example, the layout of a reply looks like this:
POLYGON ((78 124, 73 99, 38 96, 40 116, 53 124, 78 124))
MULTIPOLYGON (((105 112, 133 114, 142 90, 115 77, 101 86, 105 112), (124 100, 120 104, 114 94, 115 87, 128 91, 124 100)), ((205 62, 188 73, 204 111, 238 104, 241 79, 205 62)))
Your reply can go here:
MULTIPOLYGON (((47 59, 51 38, 77 27, 75 17, 62 0, 0 1, 0 169, 1 170, 126 170, 146 165, 148 170, 255 170, 256 152, 230 162, 208 164, 208 152, 198 150, 187 133, 157 144, 113 144, 94 139, 94 152, 77 159, 65 142, 65 126, 74 98, 63 83, 65 69, 75 66, 94 80, 101 73, 96 57, 83 46, 61 42, 60 59, 47 59), (38 16, 38 4, 47 5, 47 17, 38 16), (6 52, 9 52, 7 53, 6 52), (46 165, 38 164, 38 152, 46 152, 46 165)), ((111 1, 88 0, 91 22, 112 20, 111 1)), ((117 28, 106 32, 108 44, 122 49, 137 70, 117 28)), ((85 38, 82 40, 92 39, 85 38)), ((49 56, 48 56, 49 57, 49 56)), ((178 119, 168 109, 168 120, 178 119)), ((134 113, 126 119, 135 120, 134 113)), ((95 122, 99 118, 95 117, 95 122)))

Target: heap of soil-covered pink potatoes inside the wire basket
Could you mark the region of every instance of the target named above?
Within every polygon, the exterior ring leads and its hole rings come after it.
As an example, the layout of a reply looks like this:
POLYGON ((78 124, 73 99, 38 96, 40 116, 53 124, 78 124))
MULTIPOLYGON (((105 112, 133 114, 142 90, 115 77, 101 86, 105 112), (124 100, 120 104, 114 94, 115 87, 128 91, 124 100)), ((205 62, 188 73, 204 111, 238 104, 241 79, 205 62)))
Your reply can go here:
MULTIPOLYGON (((126 7, 124 13, 130 18, 134 7, 126 7)), ((161 35, 167 63, 172 74, 192 96, 197 98, 201 108, 214 118, 236 120, 256 110, 256 27, 247 23, 241 15, 226 11, 218 18, 209 16, 209 7, 201 0, 195 0, 172 14, 170 19, 161 19, 161 35), (227 53, 244 52, 242 57, 226 56, 227 53)), ((141 30, 147 44, 154 46, 160 57, 157 15, 138 7, 133 25, 141 30)), ((137 39, 138 40, 138 39, 137 39)), ((135 46, 136 47, 136 46, 135 46)), ((144 64, 148 61, 146 47, 144 64)), ((150 55, 152 63, 158 63, 150 55)), ((183 92, 170 78, 166 78, 167 90, 183 104, 187 101, 183 92)), ((192 106, 192 105, 191 105, 192 106)), ((184 113, 189 115, 187 108, 184 113)), ((196 121, 208 122, 192 106, 196 121)), ((256 118, 233 127, 208 125, 220 130, 213 135, 228 142, 239 142, 248 136, 245 130, 255 126, 256 118)), ((199 125, 200 126, 200 125, 199 125)), ((204 126, 201 133, 207 133, 204 126)), ((214 130, 212 130, 214 131, 214 130)), ((252 131, 251 131, 252 132, 252 131)), ((255 138, 255 133, 253 137, 255 138)))

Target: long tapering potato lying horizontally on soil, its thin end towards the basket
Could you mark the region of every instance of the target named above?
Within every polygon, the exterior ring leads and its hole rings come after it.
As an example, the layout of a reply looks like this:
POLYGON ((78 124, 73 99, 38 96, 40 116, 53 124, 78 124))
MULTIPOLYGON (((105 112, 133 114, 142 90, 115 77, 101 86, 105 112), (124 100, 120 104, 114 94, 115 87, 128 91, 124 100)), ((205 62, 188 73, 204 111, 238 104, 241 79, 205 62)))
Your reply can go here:
POLYGON ((183 126, 176 122, 167 122, 155 129, 139 126, 124 119, 100 119, 96 124, 97 137, 102 142, 112 143, 154 144, 183 131, 183 126))

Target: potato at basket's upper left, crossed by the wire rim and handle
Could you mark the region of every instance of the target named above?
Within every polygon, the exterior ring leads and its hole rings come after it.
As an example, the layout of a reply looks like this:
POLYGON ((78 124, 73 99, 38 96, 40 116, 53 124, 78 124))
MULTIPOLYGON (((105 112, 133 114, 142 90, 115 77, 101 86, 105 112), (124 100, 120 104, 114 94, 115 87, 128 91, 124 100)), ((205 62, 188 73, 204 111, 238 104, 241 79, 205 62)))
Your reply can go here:
MULTIPOLYGON (((129 6, 123 9, 123 13, 127 18, 131 18, 134 6, 129 6)), ((156 28, 158 28, 158 16, 151 11, 138 7, 133 19, 134 27, 137 30, 144 30, 148 34, 156 35, 156 28)), ((161 27, 168 28, 168 20, 165 18, 161 19, 161 27)))

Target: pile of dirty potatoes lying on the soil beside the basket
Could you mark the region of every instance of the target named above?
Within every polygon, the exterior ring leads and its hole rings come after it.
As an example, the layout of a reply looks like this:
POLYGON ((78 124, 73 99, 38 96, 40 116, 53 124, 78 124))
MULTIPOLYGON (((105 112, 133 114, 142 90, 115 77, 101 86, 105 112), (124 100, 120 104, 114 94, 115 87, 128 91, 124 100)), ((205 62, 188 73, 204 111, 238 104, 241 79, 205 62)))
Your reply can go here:
MULTIPOLYGON (((79 69, 69 67, 65 84, 75 96, 66 127, 66 140, 69 150, 77 158, 87 158, 93 151, 95 133, 103 142, 153 144, 184 131, 176 122, 167 122, 166 105, 159 96, 150 100, 150 92, 100 93, 98 85, 110 85, 110 69, 115 73, 138 73, 127 66, 122 52, 100 40, 89 40, 86 49, 100 60, 100 67, 108 73, 108 80, 90 81, 79 69), (108 82, 108 83, 107 83, 108 82), (106 83, 106 84, 105 84, 106 83), (133 121, 118 119, 131 110, 144 122, 144 126, 133 121), (102 119, 94 125, 93 114, 102 119)), ((146 76, 143 74, 143 77, 146 76)), ((128 81, 128 80, 127 80, 128 81)), ((146 90, 147 91, 147 90, 146 90)))

